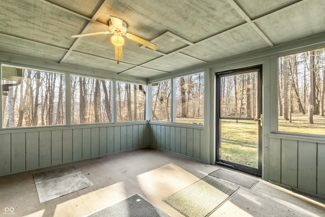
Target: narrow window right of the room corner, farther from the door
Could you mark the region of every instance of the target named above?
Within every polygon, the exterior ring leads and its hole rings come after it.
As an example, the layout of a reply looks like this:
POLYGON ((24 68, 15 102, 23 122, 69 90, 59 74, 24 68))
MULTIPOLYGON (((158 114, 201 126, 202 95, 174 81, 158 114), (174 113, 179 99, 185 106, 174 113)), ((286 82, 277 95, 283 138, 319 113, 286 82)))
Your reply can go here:
POLYGON ((152 84, 152 120, 171 120, 171 80, 152 84))

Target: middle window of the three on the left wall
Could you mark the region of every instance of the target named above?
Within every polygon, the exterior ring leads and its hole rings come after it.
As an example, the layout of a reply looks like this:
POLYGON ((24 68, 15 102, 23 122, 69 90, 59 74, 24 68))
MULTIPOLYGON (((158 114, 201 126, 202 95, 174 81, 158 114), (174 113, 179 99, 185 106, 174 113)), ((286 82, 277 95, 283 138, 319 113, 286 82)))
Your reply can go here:
POLYGON ((71 76, 71 123, 112 121, 111 81, 71 76))

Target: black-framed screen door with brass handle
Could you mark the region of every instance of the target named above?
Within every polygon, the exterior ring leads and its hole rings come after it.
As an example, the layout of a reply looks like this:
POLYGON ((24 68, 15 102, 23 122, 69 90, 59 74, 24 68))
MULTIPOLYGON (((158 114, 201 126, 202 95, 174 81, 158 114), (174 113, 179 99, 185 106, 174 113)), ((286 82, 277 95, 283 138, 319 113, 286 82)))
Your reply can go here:
POLYGON ((217 73, 217 164, 262 175, 262 66, 217 73))

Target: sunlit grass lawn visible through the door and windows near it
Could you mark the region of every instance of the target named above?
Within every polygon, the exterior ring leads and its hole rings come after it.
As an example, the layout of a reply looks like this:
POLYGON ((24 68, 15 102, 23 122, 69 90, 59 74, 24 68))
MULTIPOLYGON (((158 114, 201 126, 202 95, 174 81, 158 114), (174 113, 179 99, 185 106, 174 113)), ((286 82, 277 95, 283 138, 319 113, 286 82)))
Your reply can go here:
MULTIPOLYGON (((279 117, 279 131, 325 135, 325 117, 314 115, 314 123, 308 116, 292 114, 292 121, 279 117)), ((199 123, 203 119, 176 118, 178 122, 199 123)), ((252 120, 221 121, 221 159, 257 168, 257 124, 252 120)))

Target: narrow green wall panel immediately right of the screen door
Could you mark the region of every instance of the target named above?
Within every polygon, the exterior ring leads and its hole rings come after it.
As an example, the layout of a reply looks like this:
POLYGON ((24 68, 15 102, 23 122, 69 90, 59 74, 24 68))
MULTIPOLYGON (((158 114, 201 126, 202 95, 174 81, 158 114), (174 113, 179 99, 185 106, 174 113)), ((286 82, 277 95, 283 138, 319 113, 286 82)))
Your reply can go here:
POLYGON ((270 180, 281 182, 281 139, 270 138, 270 180))

